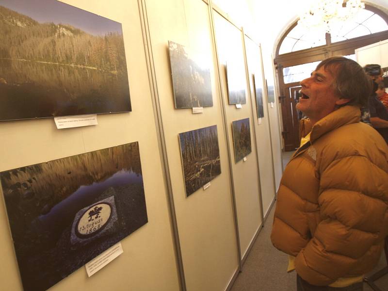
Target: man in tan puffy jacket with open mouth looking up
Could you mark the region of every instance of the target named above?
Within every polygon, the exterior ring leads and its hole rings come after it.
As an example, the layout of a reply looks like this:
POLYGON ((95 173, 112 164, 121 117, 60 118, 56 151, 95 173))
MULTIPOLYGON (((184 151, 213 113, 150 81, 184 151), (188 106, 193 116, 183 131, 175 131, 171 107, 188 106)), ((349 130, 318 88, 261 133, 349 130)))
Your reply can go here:
POLYGON ((298 291, 362 290, 388 234, 388 146, 360 123, 371 82, 332 57, 303 80, 297 109, 311 131, 284 170, 271 234, 298 291))

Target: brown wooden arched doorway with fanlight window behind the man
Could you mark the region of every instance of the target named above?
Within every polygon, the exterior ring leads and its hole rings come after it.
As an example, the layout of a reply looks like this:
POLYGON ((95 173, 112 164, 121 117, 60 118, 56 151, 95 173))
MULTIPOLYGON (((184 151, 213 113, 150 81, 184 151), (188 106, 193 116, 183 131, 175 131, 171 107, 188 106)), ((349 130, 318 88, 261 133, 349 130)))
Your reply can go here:
POLYGON ((355 49, 386 39, 388 15, 370 5, 365 5, 360 16, 344 25, 337 35, 326 33, 309 40, 297 21, 284 33, 276 49, 275 68, 280 89, 285 151, 299 146, 299 118, 295 108, 299 82, 328 57, 341 55, 355 59, 355 49))

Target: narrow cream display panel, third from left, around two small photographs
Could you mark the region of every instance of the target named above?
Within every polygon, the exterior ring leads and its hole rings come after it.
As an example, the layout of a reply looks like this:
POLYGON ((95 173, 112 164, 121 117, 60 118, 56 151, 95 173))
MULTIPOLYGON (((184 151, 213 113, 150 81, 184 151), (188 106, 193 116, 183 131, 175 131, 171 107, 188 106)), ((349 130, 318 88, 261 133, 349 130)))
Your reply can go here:
MULTIPOLYGON (((257 166, 257 151, 253 143, 253 120, 251 102, 249 100, 248 88, 245 73, 244 50, 242 34, 233 24, 226 21, 218 13, 214 13, 215 36, 217 52, 221 68, 222 90, 225 101, 226 124, 229 135, 230 157, 232 159, 233 184, 236 200, 237 221, 239 226, 239 238, 241 247, 241 258, 243 259, 255 234, 261 224, 260 199, 259 199, 259 173, 257 166), (246 104, 241 109, 228 104, 228 90, 225 65, 233 58, 242 67, 243 85, 246 94, 246 104), (251 121, 250 135, 252 140, 252 152, 246 157, 247 161, 234 161, 234 146, 232 134, 232 122, 248 118, 251 121)), ((255 104, 255 103, 253 103, 255 104)))

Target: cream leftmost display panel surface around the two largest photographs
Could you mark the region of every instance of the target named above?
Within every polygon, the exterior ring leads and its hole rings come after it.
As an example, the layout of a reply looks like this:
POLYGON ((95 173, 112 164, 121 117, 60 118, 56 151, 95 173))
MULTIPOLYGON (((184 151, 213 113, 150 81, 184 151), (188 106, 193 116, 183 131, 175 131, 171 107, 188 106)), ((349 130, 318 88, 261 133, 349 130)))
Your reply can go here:
MULTIPOLYGON (((120 22, 132 112, 98 115, 98 125, 56 129, 51 118, 0 123, 0 171, 139 142, 148 223, 121 241, 124 253, 88 278, 84 268, 50 290, 179 290, 172 226, 158 149, 138 2, 67 0, 120 22), (168 267, 166 267, 168 266, 168 267), (155 280, 158 278, 158 280, 155 280)), ((2 196, 2 193, 0 193, 2 196)), ((2 199, 1 199, 2 200, 2 199)), ((22 290, 4 203, 0 203, 1 289, 22 290)))

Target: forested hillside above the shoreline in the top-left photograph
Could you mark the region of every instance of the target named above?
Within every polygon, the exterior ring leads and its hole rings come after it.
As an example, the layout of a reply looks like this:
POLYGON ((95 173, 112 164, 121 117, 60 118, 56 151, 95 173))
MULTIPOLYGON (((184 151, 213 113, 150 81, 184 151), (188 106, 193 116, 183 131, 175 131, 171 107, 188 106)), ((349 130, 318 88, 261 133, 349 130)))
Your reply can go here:
POLYGON ((95 36, 65 24, 38 23, 0 6, 0 58, 126 72, 119 33, 95 36))

